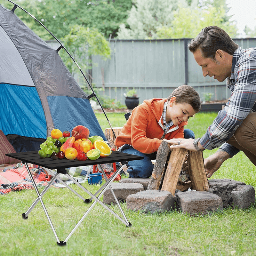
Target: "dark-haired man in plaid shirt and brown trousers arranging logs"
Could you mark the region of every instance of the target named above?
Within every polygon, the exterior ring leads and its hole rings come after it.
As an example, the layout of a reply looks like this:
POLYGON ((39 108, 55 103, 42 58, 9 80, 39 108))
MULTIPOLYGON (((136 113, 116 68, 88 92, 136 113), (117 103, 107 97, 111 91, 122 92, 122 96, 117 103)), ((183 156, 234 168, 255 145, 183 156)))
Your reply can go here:
POLYGON ((227 79, 232 94, 202 138, 168 140, 173 144, 170 148, 203 151, 220 147, 204 160, 208 178, 240 150, 256 166, 256 48, 241 49, 224 30, 210 26, 191 40, 188 49, 203 75, 220 82, 227 79))

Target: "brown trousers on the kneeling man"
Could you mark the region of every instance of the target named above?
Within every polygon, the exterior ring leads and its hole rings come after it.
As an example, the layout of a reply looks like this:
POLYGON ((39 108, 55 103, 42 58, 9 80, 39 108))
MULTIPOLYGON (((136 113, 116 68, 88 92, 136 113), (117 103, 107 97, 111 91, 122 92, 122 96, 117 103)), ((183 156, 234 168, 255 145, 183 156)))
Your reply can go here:
POLYGON ((256 166, 256 112, 249 113, 227 143, 242 150, 256 166))

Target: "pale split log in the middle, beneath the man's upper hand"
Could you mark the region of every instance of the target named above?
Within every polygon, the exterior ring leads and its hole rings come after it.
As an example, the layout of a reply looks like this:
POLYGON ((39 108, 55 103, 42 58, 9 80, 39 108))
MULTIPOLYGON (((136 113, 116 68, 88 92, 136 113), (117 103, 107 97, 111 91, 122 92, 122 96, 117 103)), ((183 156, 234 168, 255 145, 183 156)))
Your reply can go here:
POLYGON ((168 161, 161 190, 169 191, 174 196, 182 165, 187 157, 187 149, 174 148, 168 161))

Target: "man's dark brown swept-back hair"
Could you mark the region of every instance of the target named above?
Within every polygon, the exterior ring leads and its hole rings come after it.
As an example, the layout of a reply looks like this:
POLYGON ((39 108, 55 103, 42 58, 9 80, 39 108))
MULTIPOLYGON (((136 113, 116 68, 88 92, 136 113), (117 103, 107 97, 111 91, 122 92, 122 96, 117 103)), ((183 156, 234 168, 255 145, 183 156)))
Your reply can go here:
POLYGON ((201 32, 188 44, 190 52, 196 52, 199 48, 204 58, 215 60, 215 53, 218 49, 233 55, 239 47, 230 36, 217 26, 203 28, 201 32))

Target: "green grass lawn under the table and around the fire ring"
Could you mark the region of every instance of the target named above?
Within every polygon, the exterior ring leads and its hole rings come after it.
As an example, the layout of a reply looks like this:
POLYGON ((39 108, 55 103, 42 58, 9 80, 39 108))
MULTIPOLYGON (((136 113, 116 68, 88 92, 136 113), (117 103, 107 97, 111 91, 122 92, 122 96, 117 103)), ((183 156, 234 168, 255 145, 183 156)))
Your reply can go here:
MULTIPOLYGON (((96 116, 103 131, 109 127, 103 114, 97 113, 96 116)), ((187 127, 196 133, 196 137, 200 137, 215 116, 216 113, 196 114, 187 127)), ((108 114, 108 118, 113 127, 125 123, 124 114, 108 114)), ((204 157, 213 151, 205 150, 204 157)), ((241 152, 225 161, 212 178, 239 180, 256 188, 256 168, 241 152)), ((89 197, 76 185, 71 187, 85 198, 89 197)), ((99 188, 88 183, 84 183, 84 187, 92 193, 99 188)), ((35 190, 0 196, 0 255, 251 256, 256 251, 255 205, 245 210, 229 208, 211 215, 189 217, 176 211, 162 214, 132 212, 124 203, 122 208, 132 223, 132 227, 126 228, 120 220, 96 204, 70 237, 67 246, 59 247, 40 203, 27 220, 22 219, 21 214, 35 199, 35 190)), ((68 236, 91 205, 84 204, 66 188, 50 188, 43 200, 60 241, 68 236)), ((117 206, 110 208, 121 216, 117 206)))

